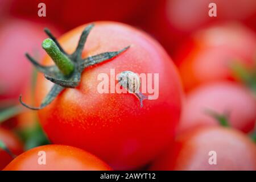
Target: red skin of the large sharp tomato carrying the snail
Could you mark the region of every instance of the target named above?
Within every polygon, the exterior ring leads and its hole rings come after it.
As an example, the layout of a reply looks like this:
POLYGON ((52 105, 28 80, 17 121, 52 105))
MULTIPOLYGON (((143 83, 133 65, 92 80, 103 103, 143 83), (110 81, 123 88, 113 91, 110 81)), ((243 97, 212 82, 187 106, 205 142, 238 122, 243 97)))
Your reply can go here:
MULTIPOLYGON (((67 52, 74 51, 84 27, 60 38, 67 52)), ((174 135, 183 99, 180 78, 170 57, 158 43, 133 27, 96 22, 82 57, 129 45, 113 60, 86 68, 77 88, 65 89, 52 104, 39 110, 40 123, 53 143, 92 152, 114 169, 143 166, 158 154, 174 135), (141 108, 133 94, 98 93, 97 76, 106 73, 110 77, 110 68, 115 68, 116 74, 159 73, 159 98, 144 100, 141 108)), ((43 63, 51 64, 51 59, 47 56, 43 63)), ((37 85, 40 104, 52 84, 40 75, 37 85)))

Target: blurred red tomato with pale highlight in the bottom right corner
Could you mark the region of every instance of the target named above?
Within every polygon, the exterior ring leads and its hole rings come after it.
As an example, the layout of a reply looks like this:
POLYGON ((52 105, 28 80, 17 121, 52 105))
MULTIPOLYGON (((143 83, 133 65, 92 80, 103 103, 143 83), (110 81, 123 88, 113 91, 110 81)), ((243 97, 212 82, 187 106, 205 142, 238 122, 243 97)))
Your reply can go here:
POLYGON ((224 127, 200 127, 180 134, 170 150, 156 159, 151 169, 254 171, 256 146, 240 131, 224 127), (216 164, 212 164, 214 156, 216 164))

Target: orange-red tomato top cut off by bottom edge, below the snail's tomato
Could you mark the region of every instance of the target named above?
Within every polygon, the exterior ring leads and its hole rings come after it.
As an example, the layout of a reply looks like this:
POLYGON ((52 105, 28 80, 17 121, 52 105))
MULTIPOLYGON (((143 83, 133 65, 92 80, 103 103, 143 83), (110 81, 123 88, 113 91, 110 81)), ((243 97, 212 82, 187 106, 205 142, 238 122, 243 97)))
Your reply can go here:
POLYGON ((20 154, 3 170, 109 171, 111 168, 96 156, 81 150, 80 148, 49 144, 46 146, 32 148, 31 150, 20 154), (44 156, 45 160, 43 159, 44 156), (44 164, 44 161, 46 164, 44 164))

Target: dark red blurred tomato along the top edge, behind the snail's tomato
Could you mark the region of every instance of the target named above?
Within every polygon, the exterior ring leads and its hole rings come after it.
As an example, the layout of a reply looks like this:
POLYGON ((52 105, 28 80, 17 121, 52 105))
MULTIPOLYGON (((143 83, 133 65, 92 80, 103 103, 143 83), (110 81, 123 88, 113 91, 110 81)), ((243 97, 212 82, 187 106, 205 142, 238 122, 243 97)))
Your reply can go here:
POLYGON ((159 0, 12 1, 10 8, 11 14, 53 21, 66 30, 97 20, 112 20, 137 24, 138 22, 143 22, 145 17, 154 10, 155 5, 159 3, 159 0), (46 4, 46 17, 38 17, 39 3, 46 4))

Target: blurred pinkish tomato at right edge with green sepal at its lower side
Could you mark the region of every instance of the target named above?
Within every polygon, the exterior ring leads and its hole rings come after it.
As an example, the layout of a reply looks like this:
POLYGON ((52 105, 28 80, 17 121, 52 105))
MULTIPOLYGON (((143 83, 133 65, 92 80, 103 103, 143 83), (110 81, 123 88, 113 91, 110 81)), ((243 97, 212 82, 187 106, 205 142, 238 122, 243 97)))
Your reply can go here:
POLYGON ((179 132, 201 125, 220 125, 207 110, 226 115, 231 127, 249 132, 256 121, 253 94, 233 82, 217 82, 200 86, 187 95, 179 132))

